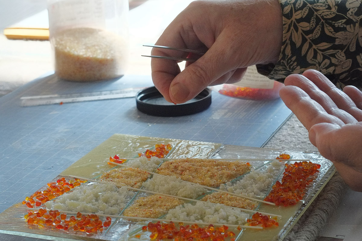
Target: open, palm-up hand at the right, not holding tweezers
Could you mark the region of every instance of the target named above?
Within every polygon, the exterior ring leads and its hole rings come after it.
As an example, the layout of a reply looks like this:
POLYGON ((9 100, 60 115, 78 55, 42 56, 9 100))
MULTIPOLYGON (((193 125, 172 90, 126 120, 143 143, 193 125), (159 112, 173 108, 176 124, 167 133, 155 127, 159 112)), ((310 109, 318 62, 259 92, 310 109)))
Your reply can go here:
POLYGON ((323 74, 307 70, 285 79, 279 94, 307 128, 320 154, 331 160, 355 191, 362 191, 362 92, 337 89, 323 74))

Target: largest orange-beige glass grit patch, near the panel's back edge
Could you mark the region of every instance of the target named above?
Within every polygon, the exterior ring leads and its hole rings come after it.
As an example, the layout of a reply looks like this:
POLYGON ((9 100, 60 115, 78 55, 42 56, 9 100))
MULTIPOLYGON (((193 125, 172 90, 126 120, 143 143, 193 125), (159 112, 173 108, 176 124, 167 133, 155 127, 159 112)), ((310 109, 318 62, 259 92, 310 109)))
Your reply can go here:
POLYGON ((216 159, 178 159, 164 162, 159 174, 216 188, 250 171, 250 164, 216 159))

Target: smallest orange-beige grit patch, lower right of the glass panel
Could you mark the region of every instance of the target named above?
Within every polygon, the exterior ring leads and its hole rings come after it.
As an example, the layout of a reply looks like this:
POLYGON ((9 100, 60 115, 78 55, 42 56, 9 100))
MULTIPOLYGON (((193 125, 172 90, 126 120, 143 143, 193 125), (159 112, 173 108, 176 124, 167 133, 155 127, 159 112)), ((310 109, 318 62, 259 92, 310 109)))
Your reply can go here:
POLYGON ((253 201, 242 197, 237 197, 228 193, 219 193, 219 192, 214 192, 209 195, 205 195, 205 197, 203 197, 201 201, 221 203, 226 206, 244 208, 249 210, 253 210, 259 204, 259 202, 257 201, 253 201))

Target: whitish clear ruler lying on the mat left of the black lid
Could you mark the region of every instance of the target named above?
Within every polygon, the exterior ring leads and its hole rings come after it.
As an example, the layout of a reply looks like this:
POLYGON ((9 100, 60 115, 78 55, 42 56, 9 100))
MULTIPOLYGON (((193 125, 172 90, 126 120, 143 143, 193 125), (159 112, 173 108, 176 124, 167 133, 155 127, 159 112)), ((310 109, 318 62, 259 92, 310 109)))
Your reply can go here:
POLYGON ((22 96, 20 100, 21 100, 21 106, 41 106, 49 104, 63 104, 63 103, 92 101, 92 100, 119 99, 119 98, 135 97, 137 92, 142 89, 144 89, 144 87, 98 91, 90 93, 22 96))

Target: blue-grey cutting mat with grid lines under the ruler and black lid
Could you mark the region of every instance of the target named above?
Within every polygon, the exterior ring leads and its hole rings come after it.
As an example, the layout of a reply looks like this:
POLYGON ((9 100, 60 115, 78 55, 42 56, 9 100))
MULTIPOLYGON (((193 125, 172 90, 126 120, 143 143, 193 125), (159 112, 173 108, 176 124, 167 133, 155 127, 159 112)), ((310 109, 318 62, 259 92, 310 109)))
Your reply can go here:
POLYGON ((152 86, 149 76, 77 83, 54 75, 0 98, 0 211, 21 202, 114 133, 261 147, 291 112, 280 99, 212 92, 211 106, 182 117, 148 116, 134 98, 21 107, 20 97, 152 86))

